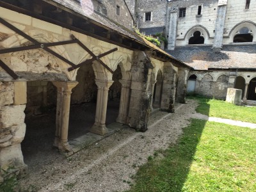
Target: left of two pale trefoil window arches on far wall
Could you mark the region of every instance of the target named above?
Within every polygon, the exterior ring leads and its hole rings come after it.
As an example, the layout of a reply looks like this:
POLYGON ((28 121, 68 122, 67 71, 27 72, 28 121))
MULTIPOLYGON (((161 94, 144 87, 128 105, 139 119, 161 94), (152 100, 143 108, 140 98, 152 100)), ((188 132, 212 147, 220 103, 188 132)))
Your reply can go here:
POLYGON ((204 26, 201 26, 201 25, 195 25, 192 28, 188 29, 187 33, 185 34, 186 44, 189 44, 189 39, 194 36, 194 33, 196 31, 200 32, 200 36, 204 38, 204 44, 207 44, 210 34, 209 34, 209 31, 204 26))

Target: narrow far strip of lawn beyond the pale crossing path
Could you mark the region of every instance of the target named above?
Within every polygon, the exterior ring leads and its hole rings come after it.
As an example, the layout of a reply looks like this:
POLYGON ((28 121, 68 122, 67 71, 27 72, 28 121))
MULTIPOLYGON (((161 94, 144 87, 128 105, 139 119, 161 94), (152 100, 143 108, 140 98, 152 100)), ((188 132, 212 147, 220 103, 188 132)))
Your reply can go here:
POLYGON ((236 106, 223 100, 204 97, 188 97, 188 99, 198 100, 199 106, 196 109, 198 113, 256 124, 256 107, 236 106))

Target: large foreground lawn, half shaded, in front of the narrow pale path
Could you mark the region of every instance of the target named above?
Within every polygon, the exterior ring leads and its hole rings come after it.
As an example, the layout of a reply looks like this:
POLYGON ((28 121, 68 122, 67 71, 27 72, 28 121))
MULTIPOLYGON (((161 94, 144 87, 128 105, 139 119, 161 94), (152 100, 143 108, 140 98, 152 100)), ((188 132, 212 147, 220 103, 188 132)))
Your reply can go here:
POLYGON ((255 138, 255 129, 192 119, 176 145, 140 167, 129 191, 256 191, 255 138))

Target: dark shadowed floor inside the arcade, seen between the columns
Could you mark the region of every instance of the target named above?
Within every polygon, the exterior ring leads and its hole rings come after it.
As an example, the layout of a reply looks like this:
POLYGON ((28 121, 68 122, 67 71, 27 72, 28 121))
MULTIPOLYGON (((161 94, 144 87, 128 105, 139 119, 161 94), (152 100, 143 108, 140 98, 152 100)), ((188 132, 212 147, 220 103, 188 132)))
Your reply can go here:
MULTIPOLYGON (((109 101, 106 116, 106 125, 115 122, 118 116, 119 102, 109 101)), ((68 128, 68 140, 74 140, 85 134, 95 121, 95 103, 84 103, 70 106, 70 120, 68 128)), ((22 153, 24 162, 28 166, 45 163, 44 157, 61 156, 58 150, 52 148, 55 134, 56 109, 44 113, 44 115, 26 117, 26 135, 22 141, 22 153), (40 162, 41 161, 41 162, 40 162)), ((89 134, 90 135, 90 134, 89 134)), ((95 136, 97 138, 97 136, 95 136)))

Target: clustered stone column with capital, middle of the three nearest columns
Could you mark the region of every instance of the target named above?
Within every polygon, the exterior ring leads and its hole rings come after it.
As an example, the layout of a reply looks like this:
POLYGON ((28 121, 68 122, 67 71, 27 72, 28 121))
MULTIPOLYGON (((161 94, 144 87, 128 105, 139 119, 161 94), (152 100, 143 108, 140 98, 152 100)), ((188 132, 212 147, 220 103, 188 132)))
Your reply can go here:
POLYGON ((107 106, 108 106, 108 91, 111 84, 114 81, 104 81, 95 79, 95 83, 98 86, 97 93, 97 106, 96 106, 96 115, 95 115, 95 123, 90 129, 90 132, 95 134, 104 135, 107 132, 106 127, 106 114, 107 114, 107 106))

